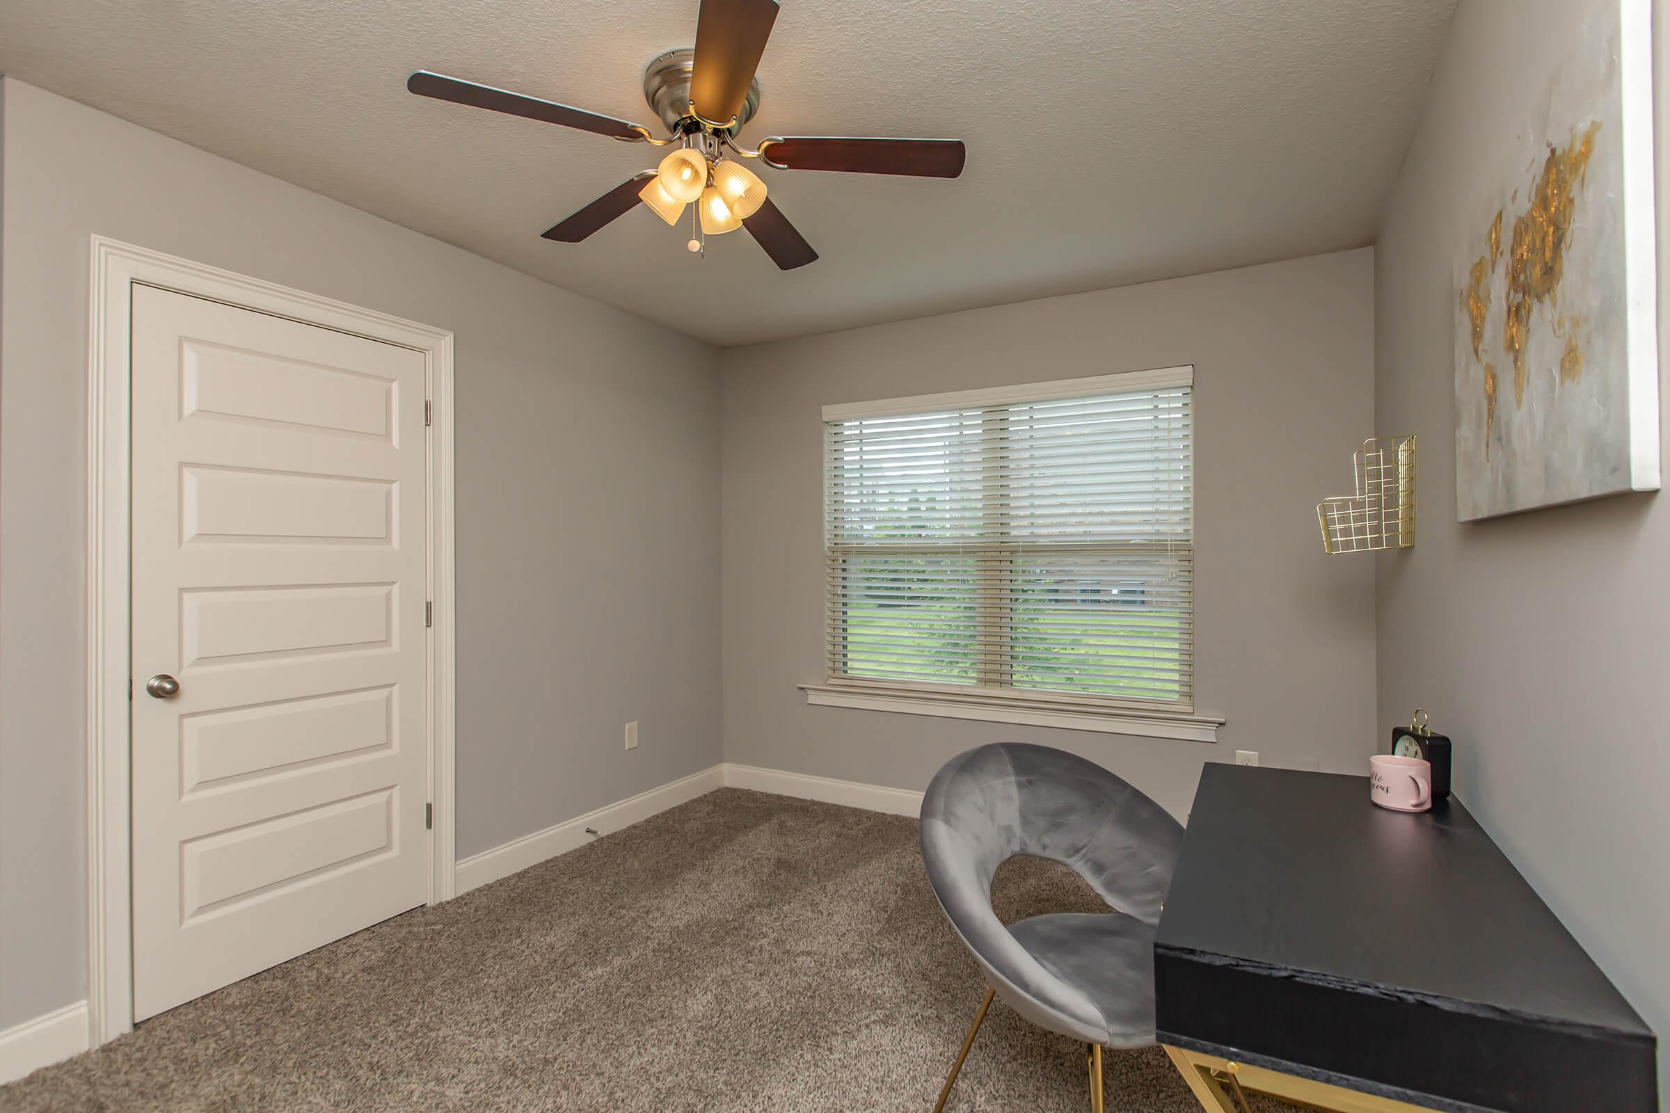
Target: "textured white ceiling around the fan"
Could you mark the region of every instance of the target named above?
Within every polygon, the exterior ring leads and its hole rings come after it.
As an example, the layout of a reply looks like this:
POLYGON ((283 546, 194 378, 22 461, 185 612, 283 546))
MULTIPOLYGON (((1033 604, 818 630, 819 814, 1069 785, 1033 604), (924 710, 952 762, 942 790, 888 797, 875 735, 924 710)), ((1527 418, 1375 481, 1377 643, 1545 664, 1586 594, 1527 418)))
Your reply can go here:
POLYGON ((743 142, 964 138, 962 179, 768 172, 820 252, 539 232, 643 144, 414 97, 431 68, 656 127, 696 0, 5 0, 0 72, 716 344, 1373 240, 1456 0, 782 0, 743 142))

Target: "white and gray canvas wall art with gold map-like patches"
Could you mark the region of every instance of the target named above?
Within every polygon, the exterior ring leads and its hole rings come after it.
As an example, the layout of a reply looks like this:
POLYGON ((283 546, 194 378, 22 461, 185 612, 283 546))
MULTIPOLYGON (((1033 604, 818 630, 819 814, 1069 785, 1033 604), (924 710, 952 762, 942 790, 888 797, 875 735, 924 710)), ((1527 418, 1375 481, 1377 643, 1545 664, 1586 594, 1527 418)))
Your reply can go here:
POLYGON ((1463 522, 1658 489, 1648 0, 1575 2, 1456 249, 1463 522))

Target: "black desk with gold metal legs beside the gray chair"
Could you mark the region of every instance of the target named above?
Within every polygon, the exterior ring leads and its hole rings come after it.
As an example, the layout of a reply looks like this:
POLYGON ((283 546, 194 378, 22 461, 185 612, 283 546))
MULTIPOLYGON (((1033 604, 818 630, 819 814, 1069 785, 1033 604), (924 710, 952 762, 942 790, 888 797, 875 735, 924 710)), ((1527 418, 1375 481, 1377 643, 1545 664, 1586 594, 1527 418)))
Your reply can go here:
POLYGON ((1316 1083, 1349 1110, 1658 1108, 1652 1030, 1456 799, 1401 814, 1366 778, 1206 766, 1154 983, 1214 1113, 1237 1085, 1328 1106, 1316 1083))

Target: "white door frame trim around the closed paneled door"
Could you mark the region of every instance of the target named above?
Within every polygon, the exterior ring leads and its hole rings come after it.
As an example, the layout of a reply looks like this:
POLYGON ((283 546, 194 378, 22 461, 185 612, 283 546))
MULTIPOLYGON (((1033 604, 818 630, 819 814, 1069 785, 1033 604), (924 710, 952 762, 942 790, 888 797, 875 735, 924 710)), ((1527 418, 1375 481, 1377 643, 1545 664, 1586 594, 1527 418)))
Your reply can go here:
POLYGON ((429 904, 453 896, 453 334, 346 302, 92 237, 87 335, 87 1028, 89 1046, 134 1028, 129 731, 129 467, 132 285, 324 325, 428 359, 429 436, 429 904))

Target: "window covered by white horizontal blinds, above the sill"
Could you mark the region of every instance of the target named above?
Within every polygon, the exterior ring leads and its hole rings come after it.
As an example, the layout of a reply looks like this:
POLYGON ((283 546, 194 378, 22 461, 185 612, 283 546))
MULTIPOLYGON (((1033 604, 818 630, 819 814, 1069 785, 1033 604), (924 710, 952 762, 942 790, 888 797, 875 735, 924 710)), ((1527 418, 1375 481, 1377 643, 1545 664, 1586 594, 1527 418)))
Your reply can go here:
POLYGON ((825 409, 832 684, 1192 713, 1192 382, 825 409))

